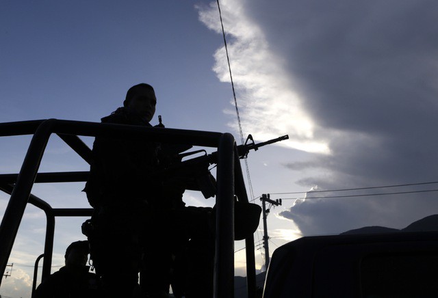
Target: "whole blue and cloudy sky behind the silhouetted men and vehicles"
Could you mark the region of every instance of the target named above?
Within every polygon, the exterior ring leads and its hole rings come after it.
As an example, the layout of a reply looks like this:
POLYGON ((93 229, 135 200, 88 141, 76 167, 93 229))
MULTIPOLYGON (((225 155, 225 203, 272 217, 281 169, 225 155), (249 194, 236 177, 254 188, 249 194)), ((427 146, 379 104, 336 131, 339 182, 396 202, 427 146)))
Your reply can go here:
MULTIPOLYGON (((437 184, 420 184, 438 180, 436 1, 222 0, 220 8, 243 137, 289 135, 247 160, 254 202, 263 193, 283 199, 268 216, 271 253, 300 236, 404 228, 437 213, 437 184), (398 194, 372 195, 381 193, 398 194)), ((157 93, 153 124, 162 115, 166 127, 230 132, 240 144, 220 30, 216 1, 1 1, 1 122, 99 122, 146 82, 157 93)), ((30 139, 0 138, 0 174, 20 170, 30 139)), ((77 170, 88 165, 53 136, 40 172, 77 170)), ((32 193, 85 208, 82 188, 32 193)), ((8 198, 0 193, 1 216, 8 198)), ((185 202, 214 204, 189 192, 185 202)), ((66 246, 84 239, 84 220, 57 219, 53 271, 66 246)), ((29 297, 44 229, 44 214, 28 206, 0 295, 29 297)), ((244 250, 235 259, 244 275, 244 250)))

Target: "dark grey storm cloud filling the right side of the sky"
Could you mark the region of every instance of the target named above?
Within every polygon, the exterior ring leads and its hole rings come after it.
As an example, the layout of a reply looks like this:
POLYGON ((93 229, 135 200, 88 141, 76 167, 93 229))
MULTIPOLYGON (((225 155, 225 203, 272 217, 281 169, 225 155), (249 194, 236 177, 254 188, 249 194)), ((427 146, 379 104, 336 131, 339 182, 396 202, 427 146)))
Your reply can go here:
MULTIPOLYGON (((320 170, 301 185, 339 189, 437 180, 438 2, 247 4, 318 124, 315 137, 331 148, 331 155, 286 165, 320 170)), ((281 215, 304 234, 377 224, 403 228, 438 213, 436 195, 305 200, 281 215)))

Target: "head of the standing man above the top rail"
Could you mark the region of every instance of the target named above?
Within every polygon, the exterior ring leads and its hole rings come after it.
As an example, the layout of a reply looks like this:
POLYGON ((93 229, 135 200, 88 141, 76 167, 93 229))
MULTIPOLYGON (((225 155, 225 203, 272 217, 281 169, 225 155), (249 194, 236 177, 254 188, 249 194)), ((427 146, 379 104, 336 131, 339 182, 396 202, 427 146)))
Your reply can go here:
POLYGON ((136 111, 150 122, 155 114, 157 98, 149 84, 141 83, 129 88, 123 106, 136 111))

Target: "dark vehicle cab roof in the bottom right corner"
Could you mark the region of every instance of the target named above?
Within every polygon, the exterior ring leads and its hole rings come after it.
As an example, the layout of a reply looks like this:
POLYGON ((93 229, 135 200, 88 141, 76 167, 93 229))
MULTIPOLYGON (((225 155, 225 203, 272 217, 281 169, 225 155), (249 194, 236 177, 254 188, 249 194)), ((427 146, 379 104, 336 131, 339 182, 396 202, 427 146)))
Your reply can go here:
POLYGON ((309 236, 274 251, 263 298, 438 297, 438 232, 309 236))

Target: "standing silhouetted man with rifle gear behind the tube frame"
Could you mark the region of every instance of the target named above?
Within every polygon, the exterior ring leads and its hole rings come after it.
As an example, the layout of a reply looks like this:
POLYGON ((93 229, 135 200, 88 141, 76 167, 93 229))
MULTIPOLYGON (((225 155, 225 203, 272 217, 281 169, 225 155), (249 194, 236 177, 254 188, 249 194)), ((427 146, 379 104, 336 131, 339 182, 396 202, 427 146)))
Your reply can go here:
MULTIPOLYGON (((102 122, 151 127, 156 103, 151 85, 134 85, 123 107, 102 122)), ((169 289, 172 256, 184 251, 191 231, 209 234, 211 208, 184 207, 181 184, 157 178, 166 153, 154 141, 96 137, 92 152, 90 177, 84 189, 94 207, 93 231, 88 239, 105 295, 133 297, 138 272, 143 268, 142 290, 149 297, 164 297, 169 289)), ((212 260, 213 252, 209 255, 212 260)), ((211 284, 212 278, 207 286, 211 288, 211 284)))

